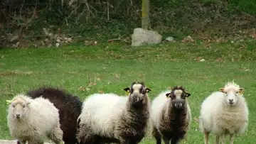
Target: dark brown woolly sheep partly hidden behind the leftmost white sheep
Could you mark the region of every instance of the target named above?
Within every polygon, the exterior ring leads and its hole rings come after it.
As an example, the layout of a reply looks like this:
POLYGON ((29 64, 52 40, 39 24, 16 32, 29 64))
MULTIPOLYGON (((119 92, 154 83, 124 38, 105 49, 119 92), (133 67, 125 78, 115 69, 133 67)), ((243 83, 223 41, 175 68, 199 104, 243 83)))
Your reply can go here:
MULTIPOLYGON (((65 144, 78 143, 76 139, 77 119, 82 111, 82 102, 78 96, 73 96, 62 89, 53 87, 39 87, 27 92, 32 99, 39 96, 51 101, 58 109, 60 115, 60 128, 63 130, 63 140, 65 144)), ((18 142, 18 144, 20 144, 18 142)))

